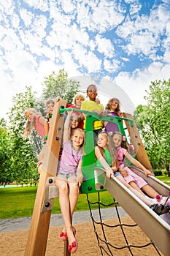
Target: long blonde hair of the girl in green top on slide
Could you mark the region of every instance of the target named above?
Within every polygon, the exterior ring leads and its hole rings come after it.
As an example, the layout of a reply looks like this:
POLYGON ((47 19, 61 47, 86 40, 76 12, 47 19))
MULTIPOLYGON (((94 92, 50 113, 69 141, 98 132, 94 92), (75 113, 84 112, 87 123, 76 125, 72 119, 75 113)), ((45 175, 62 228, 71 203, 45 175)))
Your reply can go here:
MULTIPOLYGON (((107 138, 107 142, 108 142, 107 148, 108 148, 110 156, 112 157, 112 166, 115 166, 118 168, 119 164, 118 164, 115 147, 113 146, 113 143, 112 143, 112 138, 110 137, 110 135, 107 132, 100 132, 100 133, 98 133, 98 135, 104 135, 104 137, 107 138)), ((104 154, 104 148, 101 148, 100 146, 98 146, 98 148, 101 151, 101 154, 104 157, 104 159, 106 159, 105 154, 104 154)), ((107 161, 107 159, 106 159, 106 161, 107 161)))

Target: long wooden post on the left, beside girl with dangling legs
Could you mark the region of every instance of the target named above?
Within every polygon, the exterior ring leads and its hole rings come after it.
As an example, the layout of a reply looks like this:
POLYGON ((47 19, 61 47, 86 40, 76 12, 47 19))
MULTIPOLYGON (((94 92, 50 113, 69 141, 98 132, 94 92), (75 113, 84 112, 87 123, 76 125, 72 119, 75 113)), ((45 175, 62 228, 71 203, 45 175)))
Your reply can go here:
POLYGON ((45 183, 47 177, 56 176, 58 167, 58 155, 61 148, 63 134, 63 116, 60 116, 61 105, 66 108, 66 100, 61 99, 55 103, 52 124, 47 143, 45 144, 45 157, 43 157, 42 173, 39 177, 39 185, 36 192, 36 200, 28 234, 25 256, 44 256, 47 246, 47 236, 50 225, 50 211, 41 212, 45 195, 45 183))

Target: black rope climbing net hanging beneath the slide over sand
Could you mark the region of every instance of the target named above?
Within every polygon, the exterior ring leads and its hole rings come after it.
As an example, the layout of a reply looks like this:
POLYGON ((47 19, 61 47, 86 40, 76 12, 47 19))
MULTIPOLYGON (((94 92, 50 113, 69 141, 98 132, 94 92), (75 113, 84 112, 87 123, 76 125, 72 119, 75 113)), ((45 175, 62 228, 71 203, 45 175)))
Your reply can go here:
POLYGON ((142 249, 147 246, 152 246, 154 255, 161 255, 161 253, 156 248, 155 244, 153 244, 152 241, 147 241, 147 240, 150 240, 149 238, 145 238, 142 240, 141 237, 137 235, 136 229, 139 229, 139 226, 136 223, 133 223, 132 221, 132 224, 125 224, 121 221, 118 203, 114 198, 112 203, 106 205, 104 203, 101 203, 101 196, 100 196, 101 193, 98 192, 97 194, 98 195, 97 195, 96 202, 90 202, 90 194, 87 194, 87 200, 88 200, 88 206, 90 210, 90 217, 93 222, 94 233, 96 234, 101 255, 109 255, 109 256, 147 255, 146 252, 144 252, 144 249, 142 249), (95 217, 93 217, 92 207, 95 204, 98 204, 99 221, 96 221, 95 217), (112 211, 113 213, 113 219, 115 218, 115 214, 116 214, 117 223, 115 225, 112 225, 113 224, 111 223, 112 220, 107 219, 104 221, 102 219, 102 212, 103 212, 101 208, 102 206, 104 206, 104 208, 106 207, 110 208, 110 211, 112 211), (115 207, 112 207, 112 206, 115 206, 115 207), (131 236, 128 238, 126 233, 128 233, 129 235, 129 229, 131 229, 130 231, 131 236), (122 238, 120 238, 120 236, 122 238), (135 241, 137 241, 136 238, 137 236, 139 236, 138 245, 134 244, 134 241, 133 241, 134 236, 135 236, 135 241), (120 250, 122 251, 120 252, 120 250))

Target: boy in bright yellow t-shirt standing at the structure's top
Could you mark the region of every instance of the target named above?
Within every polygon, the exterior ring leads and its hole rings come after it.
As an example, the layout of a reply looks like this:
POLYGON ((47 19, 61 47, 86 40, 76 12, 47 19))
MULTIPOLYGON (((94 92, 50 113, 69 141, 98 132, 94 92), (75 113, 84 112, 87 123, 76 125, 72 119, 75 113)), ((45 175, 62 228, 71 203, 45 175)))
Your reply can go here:
MULTIPOLYGON (((90 85, 88 86, 87 89, 87 96, 89 97, 89 100, 85 100, 84 102, 82 102, 82 110, 88 110, 88 111, 94 111, 98 114, 103 113, 104 110, 104 106, 102 104, 97 104, 96 101, 96 96, 97 96, 97 86, 95 85, 90 85)), ((85 129, 85 120, 84 120, 84 127, 85 129)), ((102 131, 103 128, 103 123, 102 121, 98 120, 98 121, 94 121, 93 122, 93 132, 96 134, 96 136, 98 135, 99 132, 102 131)))

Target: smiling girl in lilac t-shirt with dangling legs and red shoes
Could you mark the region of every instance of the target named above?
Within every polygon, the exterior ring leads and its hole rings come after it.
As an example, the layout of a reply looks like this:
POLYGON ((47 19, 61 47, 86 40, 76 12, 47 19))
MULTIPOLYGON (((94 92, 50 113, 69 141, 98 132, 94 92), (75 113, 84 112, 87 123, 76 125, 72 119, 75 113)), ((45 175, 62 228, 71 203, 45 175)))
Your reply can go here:
POLYGON ((72 215, 77 204, 79 188, 82 184, 82 153, 85 132, 76 128, 69 140, 68 122, 64 124, 63 152, 59 162, 56 186, 59 189, 59 202, 64 226, 60 234, 61 241, 69 240, 69 252, 77 251, 75 229, 72 227, 72 215))

